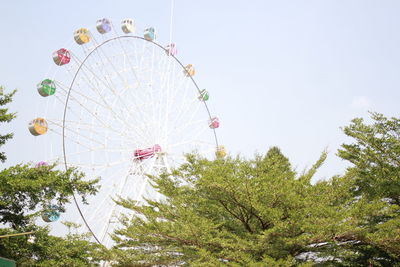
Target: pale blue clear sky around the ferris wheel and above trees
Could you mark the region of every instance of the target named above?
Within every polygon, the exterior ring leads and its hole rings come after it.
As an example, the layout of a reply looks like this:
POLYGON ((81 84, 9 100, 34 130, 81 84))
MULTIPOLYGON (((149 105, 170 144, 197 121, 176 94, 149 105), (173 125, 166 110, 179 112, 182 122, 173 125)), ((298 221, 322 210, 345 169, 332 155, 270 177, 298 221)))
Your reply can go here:
MULTIPOLYGON (((278 146, 302 171, 328 148, 318 178, 340 174, 348 141, 340 127, 367 111, 399 116, 400 2, 393 0, 175 0, 172 39, 211 93, 218 135, 232 154, 278 146)), ((15 137, 5 166, 30 161, 27 123, 37 112, 36 84, 54 68, 51 53, 80 27, 133 18, 139 31, 170 35, 171 1, 3 1, 0 84, 18 94, 15 137)), ((7 129, 5 129, 7 128, 7 129)))

